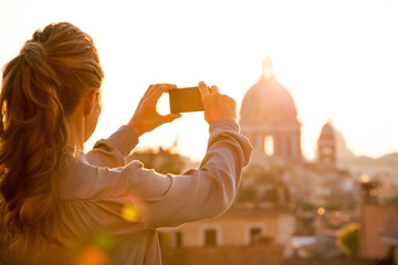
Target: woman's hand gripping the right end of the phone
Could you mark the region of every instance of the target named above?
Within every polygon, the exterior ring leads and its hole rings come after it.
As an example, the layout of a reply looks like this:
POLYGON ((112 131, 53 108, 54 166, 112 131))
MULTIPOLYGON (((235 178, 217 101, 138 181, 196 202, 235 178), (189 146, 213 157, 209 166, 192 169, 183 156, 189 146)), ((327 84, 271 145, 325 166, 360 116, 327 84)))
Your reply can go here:
POLYGON ((198 84, 205 108, 205 119, 211 125, 219 119, 237 121, 237 103, 229 96, 220 94, 217 86, 208 88, 205 82, 198 84))

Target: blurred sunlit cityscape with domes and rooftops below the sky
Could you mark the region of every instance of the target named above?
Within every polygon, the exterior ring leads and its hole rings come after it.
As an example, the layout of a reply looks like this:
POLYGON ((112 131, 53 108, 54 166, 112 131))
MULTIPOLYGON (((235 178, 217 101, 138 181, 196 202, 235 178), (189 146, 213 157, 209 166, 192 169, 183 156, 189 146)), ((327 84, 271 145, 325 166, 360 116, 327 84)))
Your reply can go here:
MULTIPOLYGON (((355 157, 325 120, 316 158, 305 160, 294 99, 270 59, 239 125, 253 156, 235 201, 218 219, 161 229, 164 264, 397 264, 397 152, 355 157)), ((172 147, 130 159, 159 172, 197 167, 172 147)))

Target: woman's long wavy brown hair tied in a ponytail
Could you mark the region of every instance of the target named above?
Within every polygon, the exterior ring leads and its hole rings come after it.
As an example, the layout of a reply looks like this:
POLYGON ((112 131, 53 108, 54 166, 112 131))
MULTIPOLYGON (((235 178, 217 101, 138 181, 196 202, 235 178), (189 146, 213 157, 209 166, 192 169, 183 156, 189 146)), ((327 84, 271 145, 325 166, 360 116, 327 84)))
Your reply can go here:
POLYGON ((38 30, 3 67, 0 94, 0 200, 12 234, 51 237, 56 176, 67 148, 67 118, 104 77, 92 38, 71 23, 38 30))

